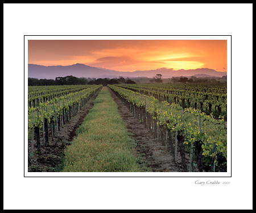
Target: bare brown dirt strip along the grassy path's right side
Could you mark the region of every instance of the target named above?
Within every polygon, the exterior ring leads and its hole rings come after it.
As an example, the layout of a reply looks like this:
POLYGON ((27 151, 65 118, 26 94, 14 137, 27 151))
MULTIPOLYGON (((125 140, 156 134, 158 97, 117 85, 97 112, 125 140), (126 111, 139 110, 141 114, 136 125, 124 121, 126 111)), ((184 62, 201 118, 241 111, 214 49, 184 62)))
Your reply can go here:
MULTIPOLYGON (((110 93, 118 105, 119 114, 126 124, 129 135, 137 141, 137 152, 144 156, 147 166, 152 169, 152 172, 188 172, 184 171, 181 166, 179 149, 177 150, 177 162, 174 162, 170 147, 162 145, 161 141, 158 141, 153 133, 144 127, 143 123, 140 123, 137 118, 134 118, 133 113, 130 112, 112 90, 110 90, 110 93)), ((188 154, 185 156, 185 161, 188 165, 188 154)))

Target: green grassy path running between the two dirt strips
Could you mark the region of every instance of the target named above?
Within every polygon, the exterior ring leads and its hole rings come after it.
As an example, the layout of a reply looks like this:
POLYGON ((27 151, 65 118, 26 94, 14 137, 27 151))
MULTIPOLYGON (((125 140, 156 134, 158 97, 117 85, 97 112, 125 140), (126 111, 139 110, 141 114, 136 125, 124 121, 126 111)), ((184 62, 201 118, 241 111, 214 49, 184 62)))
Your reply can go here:
POLYGON ((65 150, 63 172, 145 172, 131 154, 135 142, 127 134, 107 87, 102 87, 94 107, 65 150))

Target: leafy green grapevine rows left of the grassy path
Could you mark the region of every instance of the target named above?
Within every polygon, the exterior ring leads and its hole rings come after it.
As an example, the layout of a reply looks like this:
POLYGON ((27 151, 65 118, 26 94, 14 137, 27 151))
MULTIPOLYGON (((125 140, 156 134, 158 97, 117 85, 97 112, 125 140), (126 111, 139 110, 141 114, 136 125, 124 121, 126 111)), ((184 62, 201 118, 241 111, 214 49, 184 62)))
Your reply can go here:
POLYGON ((54 140, 55 133, 81 110, 96 91, 102 86, 34 86, 28 87, 28 165, 42 147, 48 147, 49 136, 54 140), (42 141, 42 143, 41 143, 42 141), (30 150, 31 148, 31 150, 30 150))

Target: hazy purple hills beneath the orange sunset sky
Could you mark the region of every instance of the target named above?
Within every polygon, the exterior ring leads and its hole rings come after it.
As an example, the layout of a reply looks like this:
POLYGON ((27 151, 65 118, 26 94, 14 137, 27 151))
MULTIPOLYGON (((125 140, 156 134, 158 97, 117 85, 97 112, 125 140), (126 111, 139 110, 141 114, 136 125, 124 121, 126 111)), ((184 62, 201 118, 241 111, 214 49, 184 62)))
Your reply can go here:
POLYGON ((105 68, 97 68, 84 64, 73 64, 68 66, 43 66, 36 64, 28 64, 28 77, 30 78, 46 78, 54 79, 56 77, 75 76, 85 78, 115 78, 115 77, 155 77, 156 74, 162 74, 162 78, 171 78, 179 76, 213 76, 222 77, 226 76, 226 72, 217 72, 214 69, 199 68, 199 69, 167 69, 160 68, 155 70, 136 70, 134 72, 119 72, 116 70, 110 70, 105 68))

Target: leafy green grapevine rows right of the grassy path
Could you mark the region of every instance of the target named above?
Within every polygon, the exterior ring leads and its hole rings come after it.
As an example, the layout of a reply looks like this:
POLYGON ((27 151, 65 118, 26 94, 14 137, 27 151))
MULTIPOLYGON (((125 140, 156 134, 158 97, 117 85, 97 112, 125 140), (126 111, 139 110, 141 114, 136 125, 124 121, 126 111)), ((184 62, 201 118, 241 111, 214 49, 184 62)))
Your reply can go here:
POLYGON ((196 158, 198 172, 226 172, 226 85, 109 87, 162 145, 170 147, 174 161, 179 148, 184 171, 192 172, 196 158))

